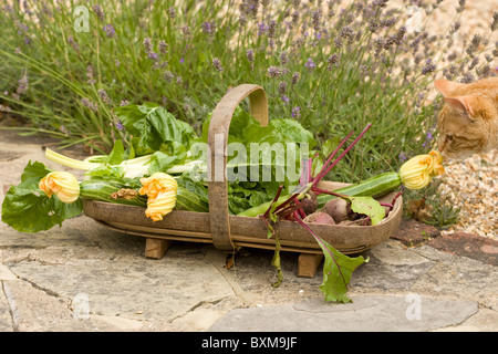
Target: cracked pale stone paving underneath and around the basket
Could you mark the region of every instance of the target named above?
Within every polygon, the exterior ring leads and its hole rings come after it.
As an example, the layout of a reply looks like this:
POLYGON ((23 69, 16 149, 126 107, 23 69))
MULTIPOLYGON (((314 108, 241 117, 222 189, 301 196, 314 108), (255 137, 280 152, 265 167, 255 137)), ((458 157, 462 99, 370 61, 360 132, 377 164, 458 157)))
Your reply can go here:
MULTIPOLYGON (((44 158, 46 143, 0 131, 1 185, 18 184, 29 159, 63 169, 44 158)), ((175 242, 146 259, 144 238, 84 216, 37 235, 0 222, 0 331, 498 331, 497 267, 438 248, 376 246, 353 273, 354 302, 331 304, 321 270, 297 277, 297 253, 282 252, 283 282, 272 288, 268 250, 242 249, 227 270, 211 244, 175 242)))

